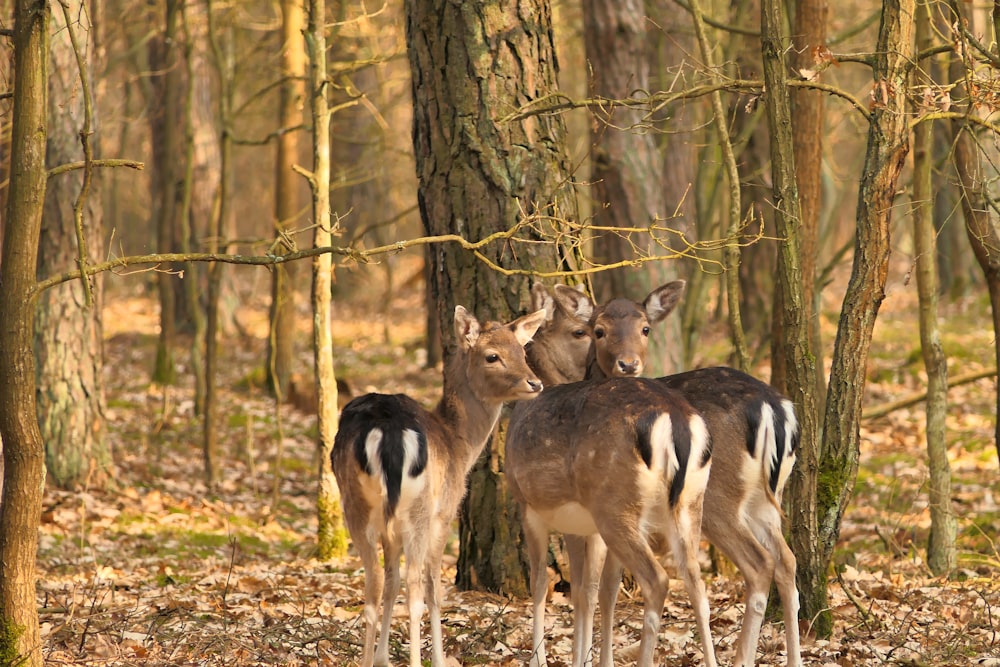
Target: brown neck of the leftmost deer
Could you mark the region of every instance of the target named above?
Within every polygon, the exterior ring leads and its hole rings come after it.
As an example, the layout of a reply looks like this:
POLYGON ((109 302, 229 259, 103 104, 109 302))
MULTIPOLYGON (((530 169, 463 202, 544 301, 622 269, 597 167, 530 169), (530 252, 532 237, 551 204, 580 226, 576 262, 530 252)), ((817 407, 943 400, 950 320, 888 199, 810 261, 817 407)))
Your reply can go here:
POLYGON ((471 469, 500 418, 501 401, 485 401, 472 389, 465 372, 465 359, 456 354, 444 374, 441 402, 435 413, 453 436, 446 444, 455 461, 471 469))

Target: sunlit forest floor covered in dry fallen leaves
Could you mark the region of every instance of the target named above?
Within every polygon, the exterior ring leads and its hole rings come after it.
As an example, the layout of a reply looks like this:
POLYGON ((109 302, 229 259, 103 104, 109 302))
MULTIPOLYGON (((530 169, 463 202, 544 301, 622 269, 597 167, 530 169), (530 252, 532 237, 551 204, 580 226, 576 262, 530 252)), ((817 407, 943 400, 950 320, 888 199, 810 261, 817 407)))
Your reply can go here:
MULTIPOLYGON (((258 286, 258 293, 266 291, 266 283, 258 286)), ((897 284, 883 306, 868 407, 924 386, 914 292, 915 285, 897 284)), ((209 490, 202 481, 201 422, 187 353, 179 354, 180 384, 150 384, 155 302, 109 291, 106 417, 116 468, 107 490, 46 490, 38 602, 47 664, 341 665, 358 659, 360 562, 353 555, 339 562, 314 558, 315 417, 290 405, 277 410, 254 381, 265 355, 267 315, 262 300, 250 301, 236 312, 239 331, 222 345, 222 481, 209 490)), ((357 393, 403 391, 430 406, 440 371, 423 368, 418 290, 389 302, 368 301, 336 306, 339 376, 357 393)), ((992 365, 987 313, 982 298, 943 313, 953 375, 992 365)), ((297 364, 308 372, 308 313, 301 322, 297 364)), ((835 316, 824 322, 830 331, 835 325, 835 316)), ((921 405, 864 422, 857 490, 830 582, 834 634, 817 639, 809 623, 800 624, 807 665, 1000 665, 995 391, 987 379, 949 394, 960 549, 960 567, 950 577, 933 576, 924 563, 930 521, 921 405)), ((454 563, 450 549, 444 573, 450 662, 525 663, 527 600, 456 590, 454 563)), ((742 619, 743 584, 731 567, 710 574, 707 558, 705 565, 714 640, 727 665, 742 619)), ((568 665, 568 600, 555 593, 548 609, 550 664, 568 665)), ((677 581, 663 619, 658 663, 702 664, 677 581)), ((616 646, 634 643, 641 596, 623 596, 616 622, 616 646)), ((390 644, 394 664, 407 661, 405 624, 401 597, 390 644)), ((627 660, 621 649, 617 657, 627 660)), ((766 623, 758 664, 784 663, 782 627, 766 623)))

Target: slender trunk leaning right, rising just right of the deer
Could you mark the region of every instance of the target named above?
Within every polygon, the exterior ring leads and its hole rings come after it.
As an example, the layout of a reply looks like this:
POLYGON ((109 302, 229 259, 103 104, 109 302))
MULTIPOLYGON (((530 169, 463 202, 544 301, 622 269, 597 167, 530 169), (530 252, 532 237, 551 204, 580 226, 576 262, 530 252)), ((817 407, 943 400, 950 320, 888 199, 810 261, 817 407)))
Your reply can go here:
MULTIPOLYGON (((807 617, 828 617, 826 568, 858 472, 861 403, 872 331, 885 297, 889 236, 899 172, 909 152, 906 93, 913 55, 915 0, 885 0, 873 62, 874 104, 858 192, 854 263, 834 342, 817 484, 819 558, 814 586, 802 590, 807 617)), ((809 583, 800 578, 800 585, 809 583)), ((821 624, 828 630, 829 622, 821 624)), ((825 634, 825 632, 824 632, 825 634)))

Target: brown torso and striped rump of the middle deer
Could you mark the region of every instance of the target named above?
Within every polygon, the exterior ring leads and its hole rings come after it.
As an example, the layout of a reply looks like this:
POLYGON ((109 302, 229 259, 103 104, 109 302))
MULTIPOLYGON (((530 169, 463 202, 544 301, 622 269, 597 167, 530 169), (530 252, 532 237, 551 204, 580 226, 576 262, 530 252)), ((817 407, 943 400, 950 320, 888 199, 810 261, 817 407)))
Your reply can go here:
POLYGON ((702 418, 676 392, 608 378, 520 405, 505 465, 515 499, 556 530, 591 534, 599 508, 676 504, 692 471, 707 474, 710 454, 702 418))

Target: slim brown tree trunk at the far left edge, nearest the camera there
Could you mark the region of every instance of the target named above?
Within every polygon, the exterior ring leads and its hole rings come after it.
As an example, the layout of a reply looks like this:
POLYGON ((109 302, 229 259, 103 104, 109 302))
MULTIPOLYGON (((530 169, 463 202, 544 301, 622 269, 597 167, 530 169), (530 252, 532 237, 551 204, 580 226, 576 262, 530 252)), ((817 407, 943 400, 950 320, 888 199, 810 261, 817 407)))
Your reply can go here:
POLYGON ((48 2, 18 0, 10 183, 0 273, 0 663, 41 667, 35 598, 45 452, 35 406, 35 271, 45 201, 48 132, 48 2))

